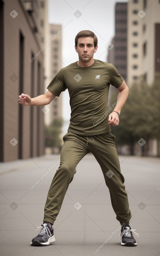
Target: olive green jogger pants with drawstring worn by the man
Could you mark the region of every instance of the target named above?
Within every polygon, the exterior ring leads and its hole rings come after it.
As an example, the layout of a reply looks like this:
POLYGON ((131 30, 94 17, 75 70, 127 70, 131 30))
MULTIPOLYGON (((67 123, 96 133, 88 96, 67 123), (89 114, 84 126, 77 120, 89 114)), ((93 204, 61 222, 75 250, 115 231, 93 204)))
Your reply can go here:
POLYGON ((120 224, 129 225, 131 212, 127 192, 123 185, 124 177, 120 171, 114 135, 108 132, 81 136, 68 132, 63 136, 63 141, 61 162, 48 191, 43 221, 54 223, 69 183, 76 173, 77 164, 87 153, 91 152, 104 174, 117 220, 120 221, 120 224))

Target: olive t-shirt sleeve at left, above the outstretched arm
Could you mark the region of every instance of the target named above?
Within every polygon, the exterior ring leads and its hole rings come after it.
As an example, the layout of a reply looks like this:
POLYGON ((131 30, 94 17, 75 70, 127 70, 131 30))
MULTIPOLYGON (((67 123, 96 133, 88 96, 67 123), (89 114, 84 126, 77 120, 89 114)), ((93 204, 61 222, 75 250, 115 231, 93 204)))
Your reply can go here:
POLYGON ((52 79, 51 83, 48 85, 47 89, 56 96, 60 96, 62 91, 66 90, 66 86, 63 80, 62 71, 60 70, 55 77, 52 79))

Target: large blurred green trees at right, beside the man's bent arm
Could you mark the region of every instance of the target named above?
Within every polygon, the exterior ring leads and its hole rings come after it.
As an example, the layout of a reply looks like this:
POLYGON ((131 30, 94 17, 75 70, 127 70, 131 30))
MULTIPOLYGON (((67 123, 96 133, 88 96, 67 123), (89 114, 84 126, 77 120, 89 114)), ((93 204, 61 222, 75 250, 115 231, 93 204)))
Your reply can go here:
MULTIPOLYGON (((119 126, 111 127, 116 136, 116 144, 128 144, 133 148, 133 144, 140 138, 146 141, 148 138, 160 139, 160 75, 157 77, 152 86, 139 82, 130 88, 119 126)), ((114 101, 115 95, 112 99, 114 101)))

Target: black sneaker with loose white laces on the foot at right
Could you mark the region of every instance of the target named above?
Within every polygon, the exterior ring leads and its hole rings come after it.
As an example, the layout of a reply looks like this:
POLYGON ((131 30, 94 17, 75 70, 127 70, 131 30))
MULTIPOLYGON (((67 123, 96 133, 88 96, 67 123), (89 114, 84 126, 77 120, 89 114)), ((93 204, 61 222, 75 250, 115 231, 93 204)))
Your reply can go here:
POLYGON ((121 229, 121 245, 122 246, 137 246, 136 240, 134 239, 132 232, 139 236, 136 232, 136 229, 131 229, 129 225, 124 226, 121 229))

